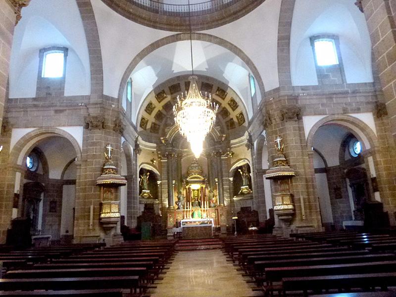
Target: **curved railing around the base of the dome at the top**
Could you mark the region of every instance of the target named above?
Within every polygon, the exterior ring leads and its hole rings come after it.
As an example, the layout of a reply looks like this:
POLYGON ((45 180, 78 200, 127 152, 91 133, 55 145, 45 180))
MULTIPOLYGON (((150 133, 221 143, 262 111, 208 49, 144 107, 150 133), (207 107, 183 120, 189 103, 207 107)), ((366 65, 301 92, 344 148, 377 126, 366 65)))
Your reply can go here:
MULTIPOLYGON (((189 16, 188 4, 170 4, 167 0, 158 2, 155 0, 129 0, 133 5, 139 6, 150 12, 168 16, 189 16)), ((179 0, 180 2, 187 2, 187 0, 179 0)), ((191 3, 191 16, 204 15, 211 12, 219 11, 223 8, 229 7, 240 0, 209 0, 200 3, 191 3)))

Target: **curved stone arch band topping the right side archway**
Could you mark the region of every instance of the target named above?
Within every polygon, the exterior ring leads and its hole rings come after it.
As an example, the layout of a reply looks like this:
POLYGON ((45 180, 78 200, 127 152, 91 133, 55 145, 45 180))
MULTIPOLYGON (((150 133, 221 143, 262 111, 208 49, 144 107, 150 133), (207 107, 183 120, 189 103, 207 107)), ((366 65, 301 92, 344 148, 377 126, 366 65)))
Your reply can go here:
POLYGON ((373 130, 362 120, 347 114, 332 114, 319 120, 312 126, 307 136, 307 149, 311 150, 313 146, 313 137, 317 130, 323 125, 340 125, 350 131, 361 142, 363 151, 376 147, 378 140, 373 130))

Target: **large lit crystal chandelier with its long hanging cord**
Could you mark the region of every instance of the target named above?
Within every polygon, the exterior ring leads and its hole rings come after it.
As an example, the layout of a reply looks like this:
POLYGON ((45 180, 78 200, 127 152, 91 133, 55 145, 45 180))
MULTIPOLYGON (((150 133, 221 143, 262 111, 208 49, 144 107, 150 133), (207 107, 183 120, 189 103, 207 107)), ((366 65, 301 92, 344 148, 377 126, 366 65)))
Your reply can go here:
POLYGON ((183 137, 187 138, 191 150, 198 159, 202 150, 203 142, 216 120, 218 104, 211 102, 211 95, 205 98, 198 90, 197 79, 194 75, 193 40, 191 29, 191 11, 189 0, 189 24, 190 24, 190 52, 192 76, 189 77, 190 88, 184 96, 177 97, 177 103, 173 106, 176 125, 183 137))

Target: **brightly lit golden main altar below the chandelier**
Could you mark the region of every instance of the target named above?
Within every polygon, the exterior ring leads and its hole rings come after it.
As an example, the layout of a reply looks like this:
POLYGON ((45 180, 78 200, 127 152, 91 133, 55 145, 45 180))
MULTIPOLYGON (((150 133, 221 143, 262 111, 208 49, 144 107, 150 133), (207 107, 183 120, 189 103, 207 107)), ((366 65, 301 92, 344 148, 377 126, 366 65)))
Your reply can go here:
POLYGON ((217 204, 217 189, 209 189, 197 159, 190 164, 174 209, 168 210, 168 228, 182 232, 184 239, 212 237, 213 228, 220 226, 225 208, 217 204))

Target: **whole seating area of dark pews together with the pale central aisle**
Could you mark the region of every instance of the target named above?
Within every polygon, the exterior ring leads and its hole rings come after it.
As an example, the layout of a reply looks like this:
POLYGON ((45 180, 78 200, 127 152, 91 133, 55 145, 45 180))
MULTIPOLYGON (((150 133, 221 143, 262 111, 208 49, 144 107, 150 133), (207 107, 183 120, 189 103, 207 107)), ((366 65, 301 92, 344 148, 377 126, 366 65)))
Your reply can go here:
POLYGON ((2 245, 0 296, 392 297, 395 235, 388 228, 23 250, 2 245))

